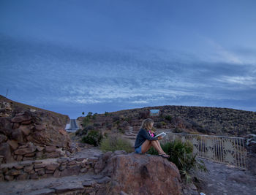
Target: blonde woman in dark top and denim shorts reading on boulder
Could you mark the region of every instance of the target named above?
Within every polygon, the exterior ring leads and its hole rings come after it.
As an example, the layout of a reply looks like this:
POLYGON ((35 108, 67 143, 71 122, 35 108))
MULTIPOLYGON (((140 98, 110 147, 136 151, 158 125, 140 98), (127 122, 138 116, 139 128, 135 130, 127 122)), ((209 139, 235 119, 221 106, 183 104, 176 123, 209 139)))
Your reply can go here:
POLYGON ((146 151, 153 146, 159 153, 159 156, 169 158, 170 156, 162 150, 161 145, 158 142, 162 137, 151 137, 148 133, 148 131, 153 128, 153 125, 154 121, 150 118, 147 118, 142 122, 140 131, 138 132, 135 140, 135 153, 146 153, 146 151))

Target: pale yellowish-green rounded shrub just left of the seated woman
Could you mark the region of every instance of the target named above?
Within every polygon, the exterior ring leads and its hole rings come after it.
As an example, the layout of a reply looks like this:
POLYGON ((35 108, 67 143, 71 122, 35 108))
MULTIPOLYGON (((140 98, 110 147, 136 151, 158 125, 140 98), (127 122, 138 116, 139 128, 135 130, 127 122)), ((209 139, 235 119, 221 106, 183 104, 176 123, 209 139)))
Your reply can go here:
POLYGON ((130 153, 134 150, 131 142, 128 139, 124 139, 123 137, 111 134, 108 137, 102 139, 100 142, 99 148, 104 151, 116 151, 116 150, 125 150, 127 153, 130 153))

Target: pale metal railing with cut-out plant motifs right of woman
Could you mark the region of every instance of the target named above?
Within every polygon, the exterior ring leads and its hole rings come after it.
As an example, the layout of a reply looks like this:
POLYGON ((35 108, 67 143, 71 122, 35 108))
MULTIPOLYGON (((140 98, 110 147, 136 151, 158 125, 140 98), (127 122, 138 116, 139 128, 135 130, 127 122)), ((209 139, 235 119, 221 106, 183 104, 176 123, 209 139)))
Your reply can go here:
POLYGON ((244 138, 167 133, 161 142, 172 142, 175 139, 181 142, 191 142, 194 153, 199 157, 246 168, 247 151, 244 138))

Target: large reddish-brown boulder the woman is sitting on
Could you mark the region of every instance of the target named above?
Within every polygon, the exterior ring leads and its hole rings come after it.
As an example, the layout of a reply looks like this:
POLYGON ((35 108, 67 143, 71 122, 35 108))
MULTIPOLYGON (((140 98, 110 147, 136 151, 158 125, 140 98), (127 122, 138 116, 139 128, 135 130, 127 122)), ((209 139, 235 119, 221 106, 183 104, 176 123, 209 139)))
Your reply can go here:
POLYGON ((109 194, 181 194, 176 165, 159 156, 112 155, 102 175, 111 178, 109 194))

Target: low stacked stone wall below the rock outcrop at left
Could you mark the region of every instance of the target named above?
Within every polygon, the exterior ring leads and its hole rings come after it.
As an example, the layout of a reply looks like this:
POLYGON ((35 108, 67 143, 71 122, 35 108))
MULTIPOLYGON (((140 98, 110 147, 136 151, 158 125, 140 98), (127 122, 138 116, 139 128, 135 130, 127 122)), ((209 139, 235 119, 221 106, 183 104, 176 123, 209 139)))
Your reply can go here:
POLYGON ((94 172, 98 157, 49 158, 40 161, 20 161, 1 164, 0 181, 34 180, 48 177, 65 177, 94 172))

